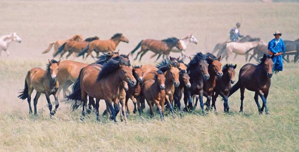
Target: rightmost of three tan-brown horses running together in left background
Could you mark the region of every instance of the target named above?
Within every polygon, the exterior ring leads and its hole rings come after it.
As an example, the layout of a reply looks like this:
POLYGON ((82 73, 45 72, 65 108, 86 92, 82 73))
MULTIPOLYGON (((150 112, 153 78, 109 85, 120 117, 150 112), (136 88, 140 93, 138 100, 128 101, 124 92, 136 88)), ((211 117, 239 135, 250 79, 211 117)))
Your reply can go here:
POLYGON ((99 56, 100 52, 114 52, 120 42, 129 43, 129 40, 128 40, 128 38, 125 37, 124 34, 117 33, 114 36, 112 36, 111 39, 109 39, 109 40, 93 41, 89 45, 87 45, 87 47, 85 47, 85 49, 82 50, 81 53, 78 54, 78 57, 82 56, 82 55, 84 57, 84 54, 87 53, 86 58, 89 55, 91 55, 94 58, 94 56, 91 54, 92 51, 96 52, 97 57, 99 56))

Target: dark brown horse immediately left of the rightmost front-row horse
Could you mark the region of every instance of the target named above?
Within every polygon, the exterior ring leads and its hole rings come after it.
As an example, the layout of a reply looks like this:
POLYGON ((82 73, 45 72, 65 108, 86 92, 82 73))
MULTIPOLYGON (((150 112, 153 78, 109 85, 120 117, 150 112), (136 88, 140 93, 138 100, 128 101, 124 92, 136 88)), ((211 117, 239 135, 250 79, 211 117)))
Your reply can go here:
POLYGON ((237 65, 232 64, 226 64, 222 68, 223 76, 221 78, 218 78, 216 81, 216 86, 214 88, 215 94, 212 96, 212 107, 214 107, 214 110, 216 111, 216 99, 218 95, 220 95, 223 100, 223 106, 224 106, 224 112, 229 112, 229 104, 228 104, 228 95, 229 90, 231 89, 232 85, 235 82, 235 69, 237 68, 237 65))

